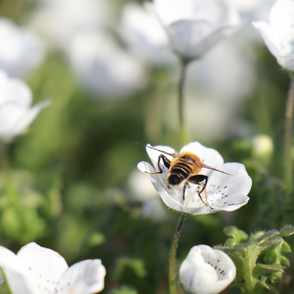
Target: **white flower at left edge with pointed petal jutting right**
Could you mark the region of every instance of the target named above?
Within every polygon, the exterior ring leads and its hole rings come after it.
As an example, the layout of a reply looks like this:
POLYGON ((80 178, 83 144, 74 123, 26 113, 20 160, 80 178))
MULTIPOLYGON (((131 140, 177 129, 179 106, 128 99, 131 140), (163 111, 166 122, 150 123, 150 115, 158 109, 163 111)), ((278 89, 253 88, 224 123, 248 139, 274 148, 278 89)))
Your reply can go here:
POLYGON ((49 101, 31 106, 31 89, 17 78, 9 78, 0 70, 0 140, 9 140, 23 132, 49 101))

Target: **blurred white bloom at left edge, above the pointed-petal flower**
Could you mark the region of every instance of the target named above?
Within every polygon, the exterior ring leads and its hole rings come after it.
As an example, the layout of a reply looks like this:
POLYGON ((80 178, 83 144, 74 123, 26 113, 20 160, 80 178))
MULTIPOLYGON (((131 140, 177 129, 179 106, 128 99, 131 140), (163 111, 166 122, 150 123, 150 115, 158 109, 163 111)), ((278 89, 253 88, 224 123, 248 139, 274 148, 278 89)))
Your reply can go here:
POLYGON ((28 28, 0 18, 0 69, 10 76, 21 76, 40 64, 44 46, 28 28))

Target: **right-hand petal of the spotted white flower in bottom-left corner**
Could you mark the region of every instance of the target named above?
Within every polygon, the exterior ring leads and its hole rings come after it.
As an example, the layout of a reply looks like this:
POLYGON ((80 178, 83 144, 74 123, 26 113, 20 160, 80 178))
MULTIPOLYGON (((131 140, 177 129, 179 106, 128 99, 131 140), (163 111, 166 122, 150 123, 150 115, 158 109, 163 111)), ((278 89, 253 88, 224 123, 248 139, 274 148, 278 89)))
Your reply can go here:
POLYGON ((101 259, 75 263, 61 276, 58 292, 64 294, 94 294, 103 290, 105 267, 101 259))

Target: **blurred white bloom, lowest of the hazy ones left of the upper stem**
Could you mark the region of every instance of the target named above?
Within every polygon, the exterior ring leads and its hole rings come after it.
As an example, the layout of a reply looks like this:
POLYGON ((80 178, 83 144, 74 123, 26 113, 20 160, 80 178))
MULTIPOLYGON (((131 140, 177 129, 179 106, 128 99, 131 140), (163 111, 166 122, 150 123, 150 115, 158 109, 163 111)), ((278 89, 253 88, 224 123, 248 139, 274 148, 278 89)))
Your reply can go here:
POLYGON ((142 66, 102 32, 76 34, 68 55, 81 83, 101 98, 126 97, 145 83, 142 66))

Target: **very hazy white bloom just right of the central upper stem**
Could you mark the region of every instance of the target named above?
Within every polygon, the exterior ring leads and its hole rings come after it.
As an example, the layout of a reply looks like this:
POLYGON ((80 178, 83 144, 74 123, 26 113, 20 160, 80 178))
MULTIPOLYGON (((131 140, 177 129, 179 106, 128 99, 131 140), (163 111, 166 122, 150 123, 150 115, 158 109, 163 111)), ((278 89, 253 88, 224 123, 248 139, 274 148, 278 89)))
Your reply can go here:
POLYGON ((239 118, 238 107, 253 92, 256 80, 253 61, 229 42, 218 44, 201 60, 191 63, 185 111, 193 138, 224 138, 231 131, 232 122, 239 118))

